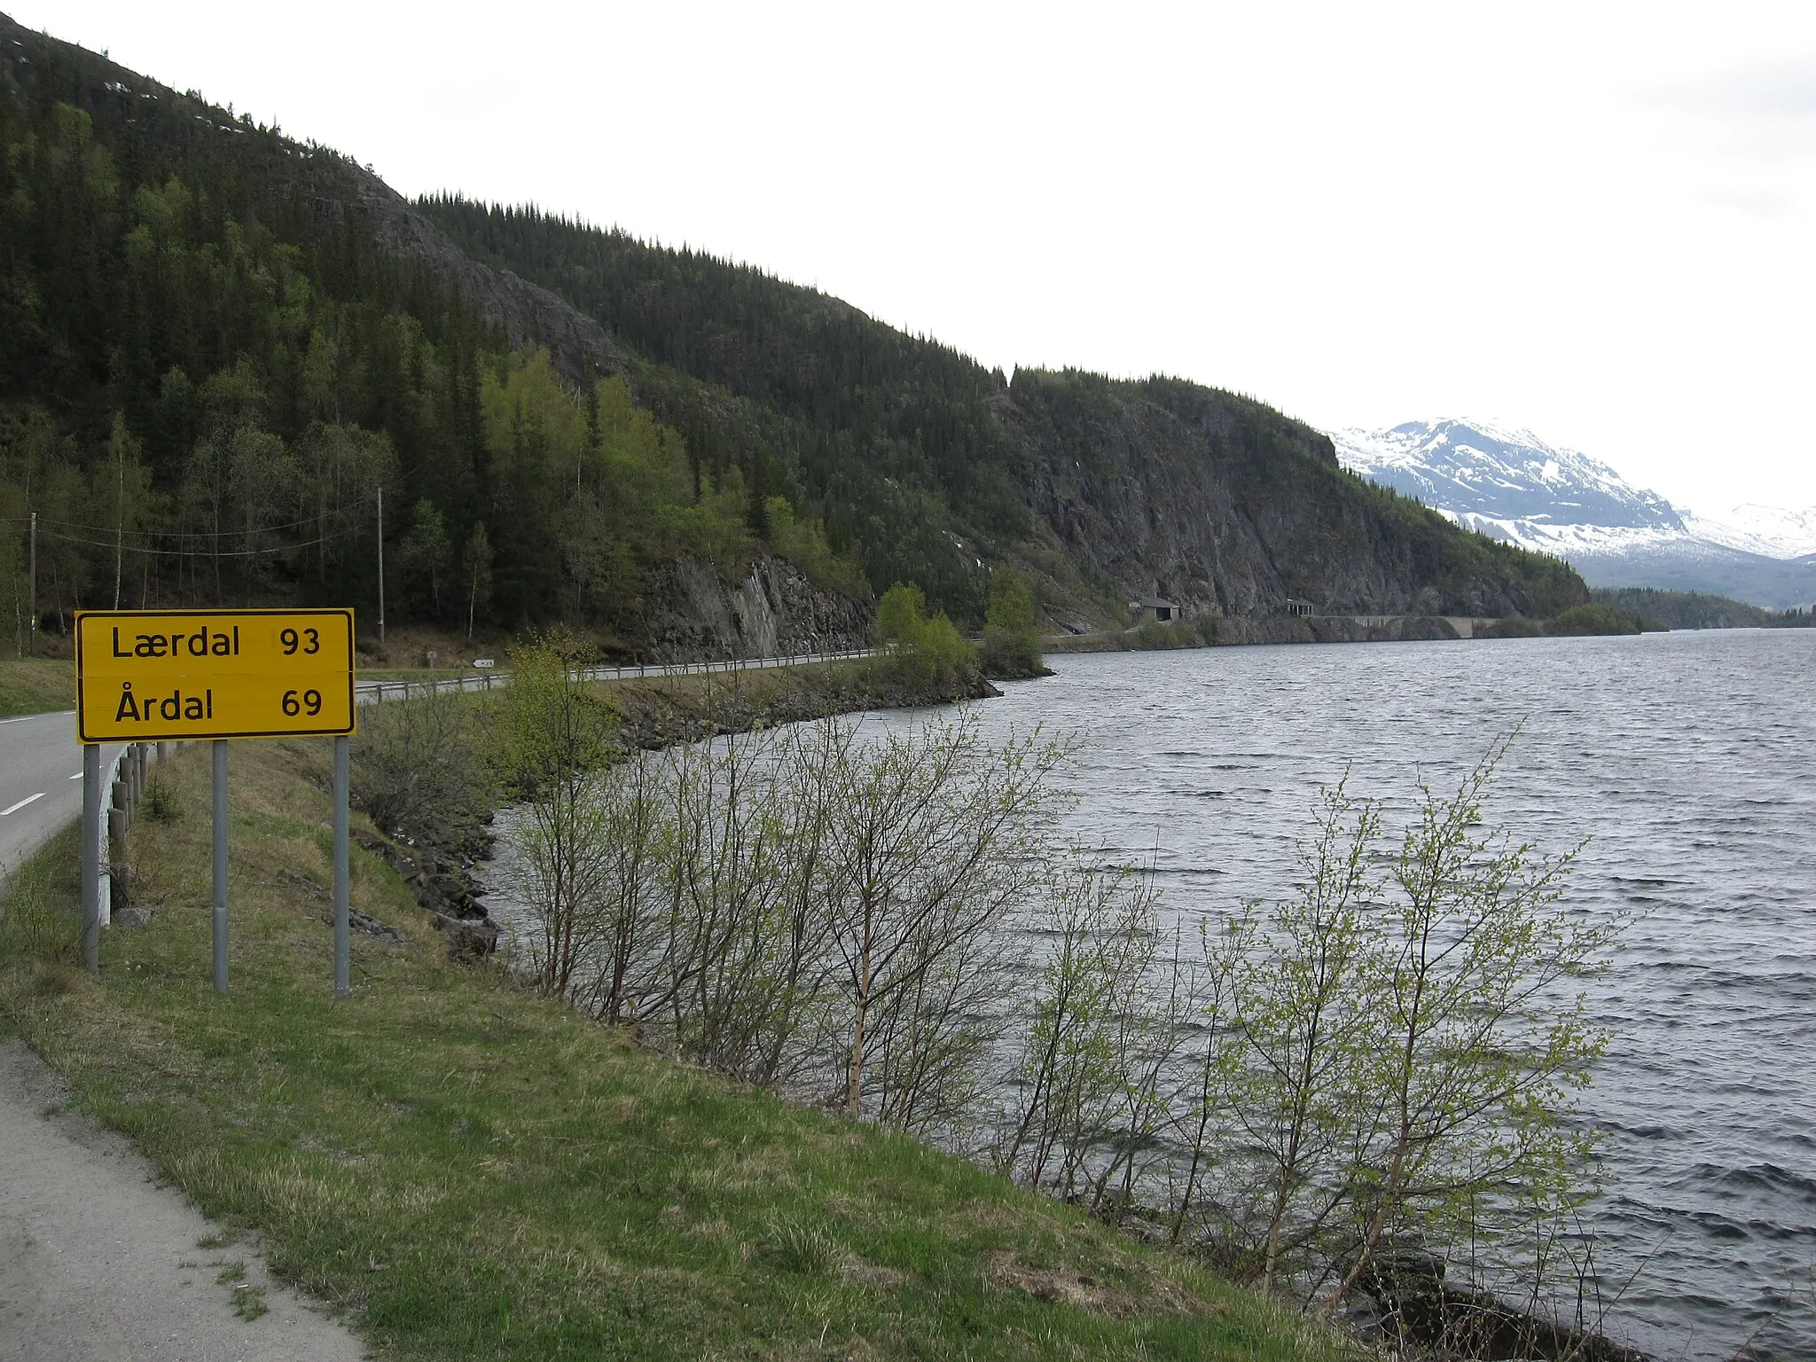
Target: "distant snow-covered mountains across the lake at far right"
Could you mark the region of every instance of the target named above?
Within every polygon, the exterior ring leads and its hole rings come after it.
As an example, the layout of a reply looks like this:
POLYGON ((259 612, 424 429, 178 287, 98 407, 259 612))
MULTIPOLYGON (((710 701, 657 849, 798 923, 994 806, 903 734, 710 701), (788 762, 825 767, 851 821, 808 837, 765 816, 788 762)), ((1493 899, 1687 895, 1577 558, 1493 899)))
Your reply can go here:
POLYGON ((1816 601, 1816 507, 1673 507, 1614 469, 1493 421, 1329 430, 1337 458, 1482 534, 1558 554, 1591 587, 1660 587, 1783 610, 1816 601))

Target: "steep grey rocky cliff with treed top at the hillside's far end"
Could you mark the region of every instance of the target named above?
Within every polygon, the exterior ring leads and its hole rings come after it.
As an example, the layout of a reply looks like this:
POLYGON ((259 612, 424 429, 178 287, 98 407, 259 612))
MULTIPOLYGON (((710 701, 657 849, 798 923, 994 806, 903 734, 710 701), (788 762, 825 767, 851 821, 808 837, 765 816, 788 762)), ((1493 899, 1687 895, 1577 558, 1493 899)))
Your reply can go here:
MULTIPOLYGON (((1041 538, 1124 605, 1157 596, 1186 616, 1277 616, 1289 599, 1317 614, 1535 616, 1587 599, 1562 563, 1460 534, 1364 485, 1324 434, 1228 392, 1022 370, 995 410, 1041 538)), ((1088 610, 1084 599, 1064 605, 1088 610)))

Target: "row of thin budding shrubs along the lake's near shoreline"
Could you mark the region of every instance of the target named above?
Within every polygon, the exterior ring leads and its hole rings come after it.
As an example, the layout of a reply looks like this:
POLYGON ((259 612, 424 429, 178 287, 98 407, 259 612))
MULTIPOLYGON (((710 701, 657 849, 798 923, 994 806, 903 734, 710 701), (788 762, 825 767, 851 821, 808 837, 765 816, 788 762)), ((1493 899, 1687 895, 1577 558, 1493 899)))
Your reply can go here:
POLYGON ((547 997, 1308 1315, 1585 1346, 1573 1117, 1604 1035, 1573 981, 1613 930, 1560 906, 1571 854, 1487 828, 1504 746, 1397 834, 1329 792, 1302 895, 1188 935, 1148 877, 1055 843, 1064 743, 828 717, 623 752, 558 654, 518 676, 492 732, 547 997))

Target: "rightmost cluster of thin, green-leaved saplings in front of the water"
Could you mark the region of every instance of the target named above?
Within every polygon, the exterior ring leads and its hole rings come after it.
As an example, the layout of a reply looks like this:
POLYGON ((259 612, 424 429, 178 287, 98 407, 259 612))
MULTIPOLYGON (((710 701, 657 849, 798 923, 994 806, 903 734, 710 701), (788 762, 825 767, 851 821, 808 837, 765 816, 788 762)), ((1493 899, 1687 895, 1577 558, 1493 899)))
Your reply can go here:
POLYGON ((1197 959, 1139 881, 1055 897, 999 1166, 1100 1213, 1146 1204, 1309 1313, 1407 1246, 1567 1295, 1598 1140, 1574 1097, 1607 1042, 1576 981, 1616 926, 1560 904, 1574 852, 1487 826, 1504 750, 1422 788, 1398 837, 1327 792, 1298 893, 1208 926, 1197 959))

